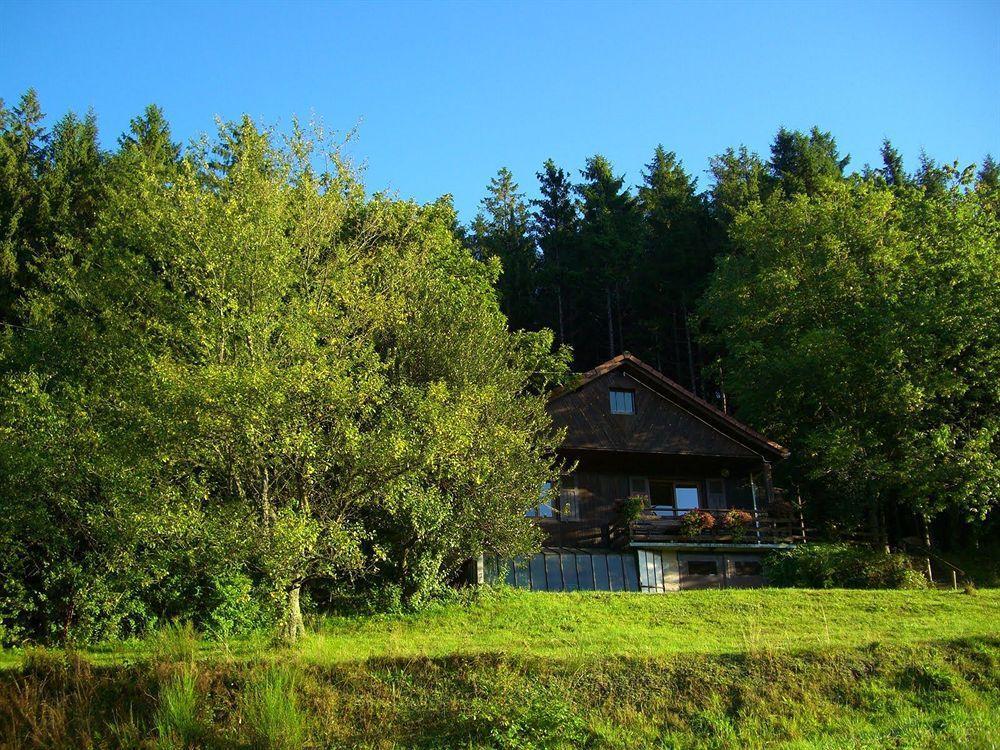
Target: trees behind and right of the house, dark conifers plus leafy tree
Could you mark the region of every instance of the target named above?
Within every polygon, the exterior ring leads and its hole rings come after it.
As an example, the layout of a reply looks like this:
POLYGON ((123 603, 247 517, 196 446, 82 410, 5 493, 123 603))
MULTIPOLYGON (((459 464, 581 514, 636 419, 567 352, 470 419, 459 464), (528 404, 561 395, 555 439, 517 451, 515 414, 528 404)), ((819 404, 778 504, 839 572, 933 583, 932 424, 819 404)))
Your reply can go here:
POLYGON ((467 243, 514 328, 576 369, 630 350, 791 448, 776 467, 830 535, 976 543, 1000 499, 1000 167, 849 172, 829 133, 710 160, 657 147, 631 189, 602 156, 506 169, 467 243), (969 521, 975 521, 969 524, 969 521))

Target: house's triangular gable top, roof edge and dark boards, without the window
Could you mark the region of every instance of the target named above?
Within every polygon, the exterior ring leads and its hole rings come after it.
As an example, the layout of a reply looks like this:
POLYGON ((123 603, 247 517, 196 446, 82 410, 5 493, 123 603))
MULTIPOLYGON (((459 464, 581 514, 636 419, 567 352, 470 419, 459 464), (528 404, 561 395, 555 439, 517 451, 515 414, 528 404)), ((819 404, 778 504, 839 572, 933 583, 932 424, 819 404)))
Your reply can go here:
POLYGON ((549 413, 567 449, 780 459, 788 451, 631 354, 555 391, 549 413), (635 391, 635 414, 611 414, 609 388, 635 391))

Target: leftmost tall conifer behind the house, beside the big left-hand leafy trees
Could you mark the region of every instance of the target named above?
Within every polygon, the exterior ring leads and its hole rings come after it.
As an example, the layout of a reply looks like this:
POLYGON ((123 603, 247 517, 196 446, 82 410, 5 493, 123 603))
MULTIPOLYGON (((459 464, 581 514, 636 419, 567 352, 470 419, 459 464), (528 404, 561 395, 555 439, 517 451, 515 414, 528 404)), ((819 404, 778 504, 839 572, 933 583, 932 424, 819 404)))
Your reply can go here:
POLYGON ((490 180, 482 210, 472 222, 472 246, 480 259, 497 258, 500 307, 515 330, 535 327, 538 257, 524 194, 506 167, 490 180))

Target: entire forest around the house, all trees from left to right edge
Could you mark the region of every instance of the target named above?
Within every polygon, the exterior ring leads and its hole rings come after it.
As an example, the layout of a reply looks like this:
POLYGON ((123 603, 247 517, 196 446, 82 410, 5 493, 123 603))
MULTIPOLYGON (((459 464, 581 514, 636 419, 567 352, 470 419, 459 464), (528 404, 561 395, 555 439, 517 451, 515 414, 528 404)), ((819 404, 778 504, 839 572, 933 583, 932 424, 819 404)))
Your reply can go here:
POLYGON ((995 543, 1000 166, 849 171, 835 138, 663 147, 371 193, 249 118, 0 104, 0 642, 230 634, 350 597, 419 607, 537 544, 546 393, 629 350, 792 451, 811 522, 995 543))

